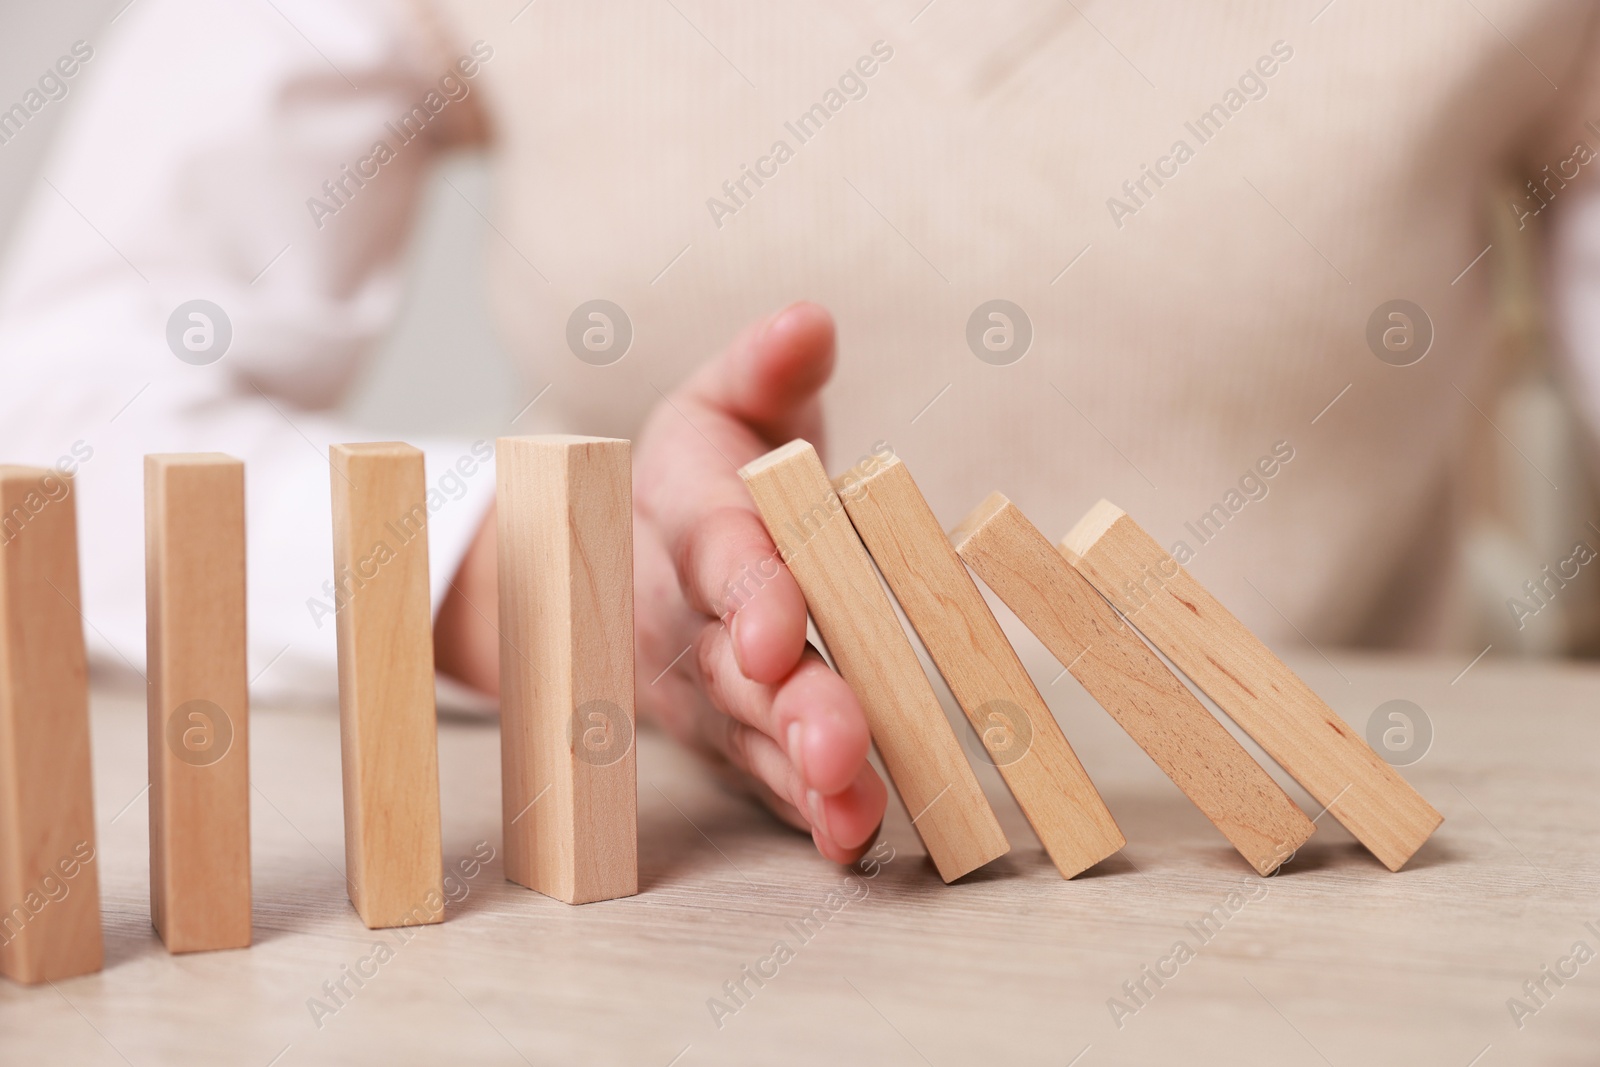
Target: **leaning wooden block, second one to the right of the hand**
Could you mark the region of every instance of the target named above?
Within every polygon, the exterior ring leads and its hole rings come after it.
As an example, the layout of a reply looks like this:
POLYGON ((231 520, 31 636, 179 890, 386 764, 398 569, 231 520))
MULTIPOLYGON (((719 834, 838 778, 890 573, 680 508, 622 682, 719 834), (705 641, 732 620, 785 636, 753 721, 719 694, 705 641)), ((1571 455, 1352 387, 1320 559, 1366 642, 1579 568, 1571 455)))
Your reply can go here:
POLYGON ((906 464, 870 458, 834 488, 1061 877, 1126 845, 906 464))

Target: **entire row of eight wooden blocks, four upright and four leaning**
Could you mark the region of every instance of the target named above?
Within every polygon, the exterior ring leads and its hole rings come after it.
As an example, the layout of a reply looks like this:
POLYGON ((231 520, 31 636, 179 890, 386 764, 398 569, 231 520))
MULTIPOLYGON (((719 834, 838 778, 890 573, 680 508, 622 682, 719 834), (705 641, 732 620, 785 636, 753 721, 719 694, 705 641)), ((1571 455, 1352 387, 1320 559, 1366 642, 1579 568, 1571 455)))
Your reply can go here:
MULTIPOLYGON (((570 904, 629 896, 638 889, 630 446, 512 437, 496 453, 506 875, 570 904)), ((347 889, 370 928, 437 923, 422 454, 336 445, 330 461, 347 889)), ((1010 843, 874 563, 1066 878, 1125 837, 968 568, 1256 872, 1282 865, 1314 824, 1134 629, 1390 870, 1442 822, 1109 502, 1058 549, 1000 494, 946 536, 893 454, 830 482, 811 445, 792 442, 741 475, 946 881, 1010 843)), ((0 467, 0 768, 10 782, 0 790, 0 973, 40 982, 99 969, 102 957, 70 482, 0 467), (58 875, 78 878, 59 904, 46 881, 58 875)), ((242 462, 146 458, 146 595, 152 921, 171 952, 245 947, 242 462)))

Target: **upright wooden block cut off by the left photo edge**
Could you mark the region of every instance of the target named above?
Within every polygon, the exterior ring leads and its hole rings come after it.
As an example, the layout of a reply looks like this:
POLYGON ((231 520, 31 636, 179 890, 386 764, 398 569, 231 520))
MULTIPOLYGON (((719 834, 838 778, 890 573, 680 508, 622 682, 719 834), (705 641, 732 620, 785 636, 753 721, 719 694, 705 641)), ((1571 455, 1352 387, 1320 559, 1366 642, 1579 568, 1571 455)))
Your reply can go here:
POLYGON ((75 510, 0 467, 0 973, 30 984, 102 963, 75 510))

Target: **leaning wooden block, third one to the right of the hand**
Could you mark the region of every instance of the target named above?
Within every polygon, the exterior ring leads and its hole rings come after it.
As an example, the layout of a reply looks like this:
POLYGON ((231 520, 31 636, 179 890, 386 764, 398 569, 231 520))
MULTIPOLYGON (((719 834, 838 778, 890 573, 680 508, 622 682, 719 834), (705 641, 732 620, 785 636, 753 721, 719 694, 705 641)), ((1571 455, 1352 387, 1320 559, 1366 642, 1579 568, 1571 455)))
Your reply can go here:
POLYGON ((962 558, 1222 832, 1269 875, 1315 824, 998 493, 950 534, 962 558))

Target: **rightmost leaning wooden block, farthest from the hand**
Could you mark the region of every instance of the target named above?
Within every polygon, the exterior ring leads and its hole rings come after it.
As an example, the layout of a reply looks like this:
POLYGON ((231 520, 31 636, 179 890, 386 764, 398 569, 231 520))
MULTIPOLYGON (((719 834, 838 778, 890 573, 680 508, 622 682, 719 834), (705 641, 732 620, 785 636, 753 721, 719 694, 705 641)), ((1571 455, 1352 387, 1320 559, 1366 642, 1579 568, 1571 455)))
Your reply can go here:
POLYGON ((1389 870, 1445 821, 1122 509, 1096 504, 1061 552, 1389 870))

